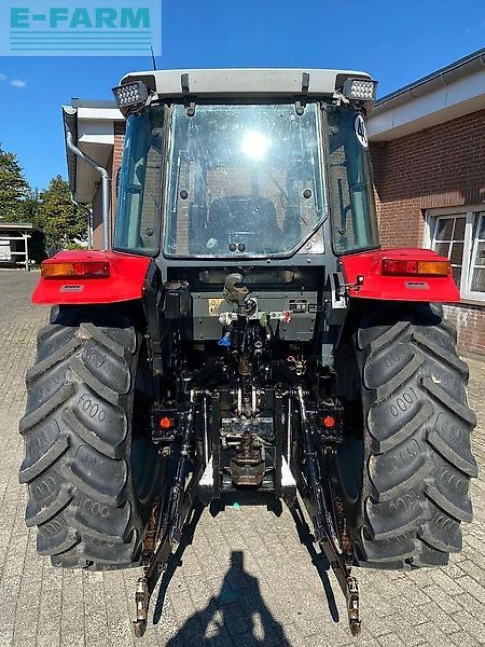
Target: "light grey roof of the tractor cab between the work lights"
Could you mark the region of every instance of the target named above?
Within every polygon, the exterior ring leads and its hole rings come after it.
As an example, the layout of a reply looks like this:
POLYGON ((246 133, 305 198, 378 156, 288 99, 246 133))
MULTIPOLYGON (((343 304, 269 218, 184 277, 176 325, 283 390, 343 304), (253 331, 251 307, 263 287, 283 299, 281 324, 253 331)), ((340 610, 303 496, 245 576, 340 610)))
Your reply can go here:
POLYGON ((162 97, 184 96, 332 96, 347 78, 371 78, 366 72, 327 69, 198 69, 132 72, 122 85, 143 81, 162 97))

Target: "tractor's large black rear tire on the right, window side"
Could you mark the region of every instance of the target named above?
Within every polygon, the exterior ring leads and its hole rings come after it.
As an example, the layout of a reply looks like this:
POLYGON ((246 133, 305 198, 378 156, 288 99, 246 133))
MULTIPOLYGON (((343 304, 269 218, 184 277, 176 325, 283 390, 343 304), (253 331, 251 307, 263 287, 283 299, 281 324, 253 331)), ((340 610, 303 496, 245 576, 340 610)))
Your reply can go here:
POLYGON ((462 549, 476 418, 455 343, 439 306, 372 303, 340 349, 341 395, 361 414, 338 452, 360 565, 445 565, 462 549))

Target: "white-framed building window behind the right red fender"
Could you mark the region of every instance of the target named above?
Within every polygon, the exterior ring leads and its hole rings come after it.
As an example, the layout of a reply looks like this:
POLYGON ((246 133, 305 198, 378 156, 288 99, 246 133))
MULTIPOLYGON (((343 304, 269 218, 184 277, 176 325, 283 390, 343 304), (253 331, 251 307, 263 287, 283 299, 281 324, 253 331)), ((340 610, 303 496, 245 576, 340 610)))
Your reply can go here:
POLYGON ((425 247, 449 258, 462 298, 485 301, 485 212, 432 210, 426 224, 425 247))

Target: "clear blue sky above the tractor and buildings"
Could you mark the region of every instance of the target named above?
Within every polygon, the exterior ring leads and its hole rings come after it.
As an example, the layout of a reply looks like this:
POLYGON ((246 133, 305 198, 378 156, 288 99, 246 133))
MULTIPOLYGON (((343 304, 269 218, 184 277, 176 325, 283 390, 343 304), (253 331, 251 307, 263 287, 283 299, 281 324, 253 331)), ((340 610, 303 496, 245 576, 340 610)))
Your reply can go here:
MULTIPOLYGON (((157 64, 361 69, 383 96, 484 43, 483 0, 163 0, 157 64)), ((125 72, 149 67, 138 57, 0 57, 3 148, 34 187, 65 177, 61 104, 112 98, 125 72)))

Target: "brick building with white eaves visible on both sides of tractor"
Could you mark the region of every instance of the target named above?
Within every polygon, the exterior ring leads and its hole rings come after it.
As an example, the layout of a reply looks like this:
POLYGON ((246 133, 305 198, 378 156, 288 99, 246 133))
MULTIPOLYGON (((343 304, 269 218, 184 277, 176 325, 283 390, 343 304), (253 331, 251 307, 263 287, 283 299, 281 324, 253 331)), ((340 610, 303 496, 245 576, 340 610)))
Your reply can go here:
MULTIPOLYGON (((125 122, 110 102, 63 108, 79 148, 113 182, 125 122)), ((378 100, 368 119, 383 247, 431 247, 451 259, 460 303, 446 306, 461 351, 485 354, 485 49, 378 100)), ((92 203, 102 244, 100 177, 67 151, 70 187, 92 203)))

